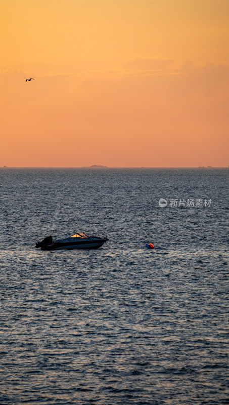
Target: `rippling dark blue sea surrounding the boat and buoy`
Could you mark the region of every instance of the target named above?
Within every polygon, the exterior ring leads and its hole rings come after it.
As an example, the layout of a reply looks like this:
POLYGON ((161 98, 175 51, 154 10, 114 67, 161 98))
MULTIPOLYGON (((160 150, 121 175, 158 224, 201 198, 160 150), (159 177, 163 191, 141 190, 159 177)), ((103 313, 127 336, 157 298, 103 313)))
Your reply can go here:
POLYGON ((0 169, 1 405, 228 403, 228 174, 0 169))

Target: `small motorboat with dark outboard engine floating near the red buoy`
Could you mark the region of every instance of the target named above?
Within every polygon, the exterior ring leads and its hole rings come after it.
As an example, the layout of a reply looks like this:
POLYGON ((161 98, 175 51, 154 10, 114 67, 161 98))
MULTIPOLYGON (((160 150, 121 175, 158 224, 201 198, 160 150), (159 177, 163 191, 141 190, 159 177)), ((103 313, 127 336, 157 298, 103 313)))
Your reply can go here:
POLYGON ((64 239, 55 240, 50 235, 41 242, 37 242, 36 248, 41 250, 99 249, 108 240, 106 233, 95 235, 93 232, 92 235, 86 235, 84 232, 80 232, 64 239))

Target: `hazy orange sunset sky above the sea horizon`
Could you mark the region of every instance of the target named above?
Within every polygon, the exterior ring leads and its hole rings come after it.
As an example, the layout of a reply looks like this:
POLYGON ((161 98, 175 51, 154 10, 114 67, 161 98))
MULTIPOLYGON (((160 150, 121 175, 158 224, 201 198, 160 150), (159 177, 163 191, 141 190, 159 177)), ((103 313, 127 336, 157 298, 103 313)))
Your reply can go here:
POLYGON ((228 0, 0 5, 0 166, 229 165, 228 0))

